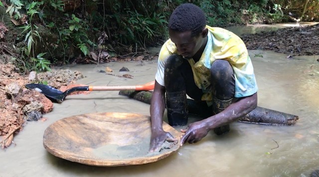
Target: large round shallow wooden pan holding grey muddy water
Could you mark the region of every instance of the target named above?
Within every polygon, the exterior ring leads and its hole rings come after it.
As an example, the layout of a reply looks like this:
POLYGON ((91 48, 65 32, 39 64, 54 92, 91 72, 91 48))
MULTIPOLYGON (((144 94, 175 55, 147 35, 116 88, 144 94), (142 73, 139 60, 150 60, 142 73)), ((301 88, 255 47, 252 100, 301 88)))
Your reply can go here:
POLYGON ((180 146, 180 133, 163 122, 163 129, 178 139, 150 153, 150 116, 132 113, 90 113, 63 118, 43 135, 52 155, 91 166, 126 166, 156 162, 180 146))

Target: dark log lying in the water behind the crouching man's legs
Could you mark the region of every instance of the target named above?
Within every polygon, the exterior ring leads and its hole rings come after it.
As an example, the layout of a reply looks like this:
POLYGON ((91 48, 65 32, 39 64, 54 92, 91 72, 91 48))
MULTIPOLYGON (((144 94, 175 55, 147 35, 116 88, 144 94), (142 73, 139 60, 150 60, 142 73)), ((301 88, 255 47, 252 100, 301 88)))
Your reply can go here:
MULTIPOLYGON (((133 99, 150 104, 152 91, 134 91, 134 90, 121 90, 120 95, 129 96, 133 99)), ((198 114, 201 116, 205 114, 205 110, 193 99, 187 98, 188 112, 191 114, 198 114)), ((267 125, 294 125, 299 117, 297 115, 287 114, 284 112, 267 109, 257 106, 250 113, 240 118, 240 122, 267 124, 267 125)))

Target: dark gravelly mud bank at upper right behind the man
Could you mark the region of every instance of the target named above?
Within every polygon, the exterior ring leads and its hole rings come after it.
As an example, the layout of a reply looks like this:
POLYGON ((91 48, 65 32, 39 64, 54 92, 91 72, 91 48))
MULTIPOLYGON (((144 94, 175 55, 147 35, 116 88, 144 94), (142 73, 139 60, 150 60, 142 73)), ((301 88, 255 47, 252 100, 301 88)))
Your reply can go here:
POLYGON ((242 36, 248 50, 273 50, 288 58, 299 55, 319 55, 319 24, 283 28, 242 36))

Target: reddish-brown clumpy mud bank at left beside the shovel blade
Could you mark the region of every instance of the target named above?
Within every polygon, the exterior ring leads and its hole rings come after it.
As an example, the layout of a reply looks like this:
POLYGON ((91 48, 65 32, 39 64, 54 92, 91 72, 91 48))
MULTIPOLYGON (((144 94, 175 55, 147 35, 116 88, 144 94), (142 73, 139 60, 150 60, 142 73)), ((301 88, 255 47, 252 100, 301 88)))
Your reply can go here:
MULTIPOLYGON (((25 84, 46 81, 48 85, 55 88, 70 88, 72 86, 68 85, 83 78, 80 72, 71 70, 55 70, 40 74, 31 72, 29 76, 20 75, 18 72, 14 65, 0 65, 0 136, 3 136, 0 145, 2 149, 11 145, 13 136, 22 131, 26 120, 40 120, 42 114, 53 110, 51 100, 36 90, 24 88, 25 84)), ((79 93, 82 92, 77 92, 79 93)))

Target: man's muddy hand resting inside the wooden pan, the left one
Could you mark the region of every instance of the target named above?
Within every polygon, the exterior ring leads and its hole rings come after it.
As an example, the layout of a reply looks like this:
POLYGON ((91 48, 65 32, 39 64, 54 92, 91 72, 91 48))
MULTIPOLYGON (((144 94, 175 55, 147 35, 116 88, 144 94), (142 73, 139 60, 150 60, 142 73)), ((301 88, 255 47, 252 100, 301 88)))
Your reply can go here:
POLYGON ((161 145, 165 142, 165 140, 174 142, 177 141, 177 138, 174 138, 170 133, 165 132, 164 130, 152 132, 150 152, 159 152, 161 149, 161 145))

